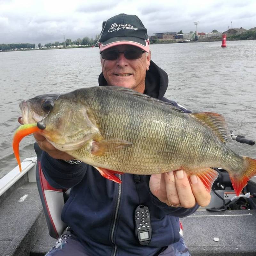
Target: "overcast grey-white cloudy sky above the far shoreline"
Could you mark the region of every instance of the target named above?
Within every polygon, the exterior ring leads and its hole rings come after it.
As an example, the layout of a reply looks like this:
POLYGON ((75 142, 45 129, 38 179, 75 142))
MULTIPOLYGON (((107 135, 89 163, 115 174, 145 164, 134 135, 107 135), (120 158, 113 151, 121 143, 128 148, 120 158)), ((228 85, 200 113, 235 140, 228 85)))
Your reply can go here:
POLYGON ((102 21, 136 14, 148 35, 256 27, 256 0, 0 0, 0 44, 46 44, 100 34, 102 21), (65 4, 67 3, 67 4, 65 4))

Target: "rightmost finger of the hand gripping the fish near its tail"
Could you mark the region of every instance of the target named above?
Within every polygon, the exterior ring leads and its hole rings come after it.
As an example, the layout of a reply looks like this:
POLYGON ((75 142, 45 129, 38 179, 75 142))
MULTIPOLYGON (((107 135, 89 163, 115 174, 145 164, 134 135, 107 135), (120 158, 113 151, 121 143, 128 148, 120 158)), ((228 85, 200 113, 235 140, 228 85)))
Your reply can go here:
POLYGON ((204 187, 203 182, 195 174, 191 175, 189 179, 197 204, 202 207, 207 206, 211 201, 211 195, 204 187))

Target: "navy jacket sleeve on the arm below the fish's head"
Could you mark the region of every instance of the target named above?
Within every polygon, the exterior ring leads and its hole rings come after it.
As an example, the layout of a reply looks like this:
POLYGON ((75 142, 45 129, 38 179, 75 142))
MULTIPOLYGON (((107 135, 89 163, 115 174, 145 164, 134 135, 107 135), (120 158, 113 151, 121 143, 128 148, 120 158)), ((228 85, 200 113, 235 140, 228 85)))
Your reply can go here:
POLYGON ((42 152, 41 166, 45 179, 53 188, 67 189, 78 184, 87 170, 87 164, 68 164, 63 160, 55 159, 46 152, 42 152))

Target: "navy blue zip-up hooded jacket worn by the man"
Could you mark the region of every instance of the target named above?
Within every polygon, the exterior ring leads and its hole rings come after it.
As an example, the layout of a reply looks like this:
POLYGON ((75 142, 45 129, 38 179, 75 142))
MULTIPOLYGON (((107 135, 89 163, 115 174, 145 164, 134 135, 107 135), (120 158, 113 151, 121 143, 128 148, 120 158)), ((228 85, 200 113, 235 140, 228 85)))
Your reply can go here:
MULTIPOLYGON (((102 74, 99 84, 106 85, 102 74)), ((179 107, 163 97, 167 86, 167 74, 151 61, 145 93, 179 107)), ((46 152, 42 154, 41 163, 53 187, 72 188, 61 218, 92 256, 157 255, 161 248, 179 241, 179 217, 188 216, 198 208, 173 208, 160 202, 150 192, 149 175, 125 173, 119 175, 122 184, 117 184, 103 178, 90 165, 71 165, 53 159, 46 152), (135 176, 139 177, 137 184, 135 176), (148 206, 151 214, 153 235, 147 246, 140 245, 134 235, 134 210, 139 204, 148 206)))

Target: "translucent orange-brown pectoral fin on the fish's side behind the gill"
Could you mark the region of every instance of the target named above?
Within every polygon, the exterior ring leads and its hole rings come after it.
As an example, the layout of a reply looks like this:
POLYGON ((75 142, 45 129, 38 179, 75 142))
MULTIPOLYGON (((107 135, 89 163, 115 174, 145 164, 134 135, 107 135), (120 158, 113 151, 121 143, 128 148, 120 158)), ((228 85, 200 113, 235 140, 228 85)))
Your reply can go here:
POLYGON ((130 146, 132 146, 131 142, 119 139, 93 141, 91 153, 94 156, 104 156, 107 153, 130 146))

